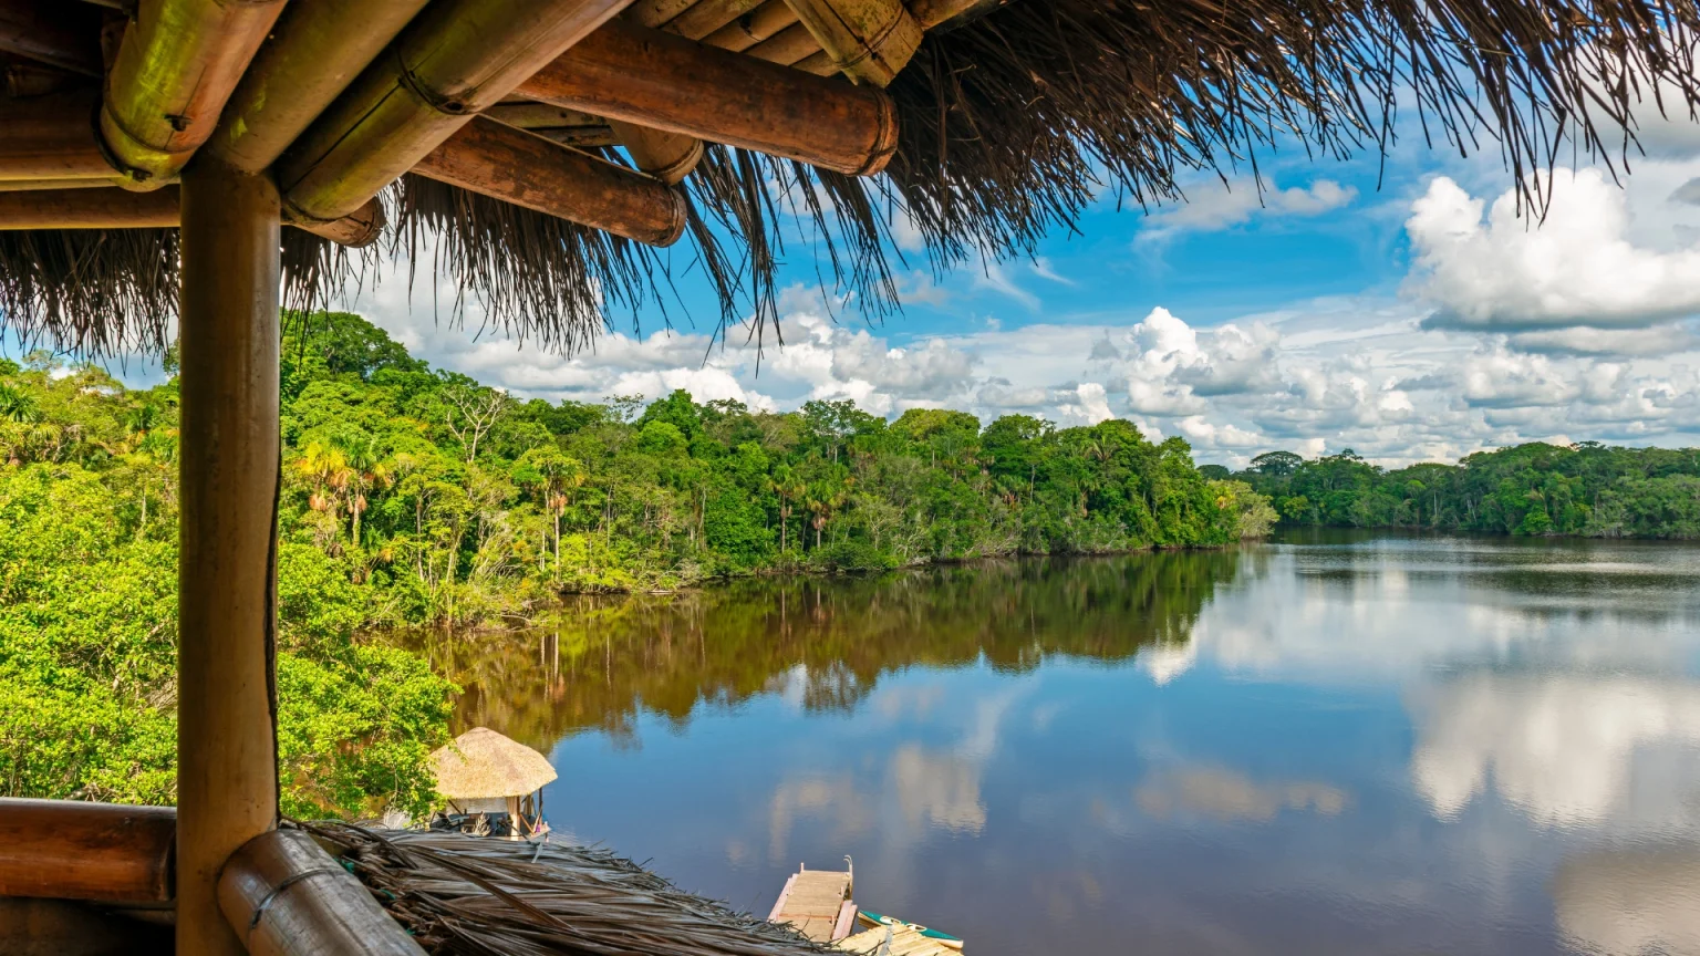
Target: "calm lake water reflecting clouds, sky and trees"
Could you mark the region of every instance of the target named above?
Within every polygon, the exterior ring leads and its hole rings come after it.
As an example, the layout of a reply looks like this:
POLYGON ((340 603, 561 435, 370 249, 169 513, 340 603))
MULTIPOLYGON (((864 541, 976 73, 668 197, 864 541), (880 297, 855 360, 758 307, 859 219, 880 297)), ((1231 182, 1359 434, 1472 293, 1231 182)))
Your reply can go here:
POLYGON ((1700 548, 1318 536, 439 640, 558 832, 1037 953, 1700 953, 1700 548))

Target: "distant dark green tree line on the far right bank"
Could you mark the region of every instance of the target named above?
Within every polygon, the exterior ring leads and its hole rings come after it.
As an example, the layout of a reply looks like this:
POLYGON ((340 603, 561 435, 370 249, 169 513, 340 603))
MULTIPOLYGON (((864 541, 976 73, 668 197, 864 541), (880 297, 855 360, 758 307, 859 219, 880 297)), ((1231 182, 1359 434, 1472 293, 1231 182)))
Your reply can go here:
POLYGON ((1350 449, 1275 451, 1232 478, 1272 498, 1284 524, 1700 538, 1700 449, 1530 442, 1396 469, 1350 449))

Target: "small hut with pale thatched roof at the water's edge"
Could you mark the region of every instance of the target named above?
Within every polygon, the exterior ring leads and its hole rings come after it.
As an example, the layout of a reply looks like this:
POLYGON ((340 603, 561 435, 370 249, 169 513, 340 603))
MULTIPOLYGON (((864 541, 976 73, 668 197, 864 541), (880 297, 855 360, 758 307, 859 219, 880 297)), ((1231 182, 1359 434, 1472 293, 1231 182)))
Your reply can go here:
POLYGON ((430 755, 437 793, 452 813, 505 815, 507 835, 534 837, 542 822, 542 786, 556 779, 542 754, 488 726, 474 726, 430 755))

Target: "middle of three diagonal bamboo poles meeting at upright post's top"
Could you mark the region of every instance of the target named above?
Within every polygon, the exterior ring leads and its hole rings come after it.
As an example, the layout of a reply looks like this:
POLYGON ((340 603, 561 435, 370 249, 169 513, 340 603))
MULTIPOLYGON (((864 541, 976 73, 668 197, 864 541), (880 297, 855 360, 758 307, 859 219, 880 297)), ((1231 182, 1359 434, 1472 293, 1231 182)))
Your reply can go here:
POLYGON ((292 0, 207 148, 241 172, 270 167, 423 7, 425 0, 292 0))

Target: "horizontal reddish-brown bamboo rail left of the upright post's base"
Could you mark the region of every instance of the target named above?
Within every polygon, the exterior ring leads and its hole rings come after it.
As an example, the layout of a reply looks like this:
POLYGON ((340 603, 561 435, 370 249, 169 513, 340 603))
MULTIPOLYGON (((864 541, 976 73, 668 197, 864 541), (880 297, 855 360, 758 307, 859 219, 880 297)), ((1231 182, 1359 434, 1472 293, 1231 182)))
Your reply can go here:
POLYGON ((168 902, 175 834, 170 806, 0 798, 0 896, 168 902))

